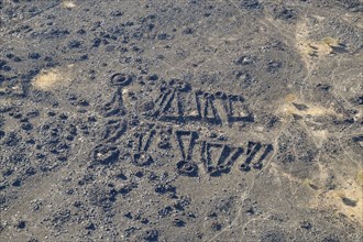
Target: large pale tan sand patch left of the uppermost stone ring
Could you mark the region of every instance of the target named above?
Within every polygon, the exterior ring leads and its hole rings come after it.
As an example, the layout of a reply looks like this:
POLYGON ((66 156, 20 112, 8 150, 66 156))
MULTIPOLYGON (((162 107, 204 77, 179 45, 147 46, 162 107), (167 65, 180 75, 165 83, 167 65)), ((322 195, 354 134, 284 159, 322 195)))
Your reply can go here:
POLYGON ((72 80, 72 67, 42 70, 33 78, 32 85, 40 90, 52 90, 59 86, 69 85, 72 80))

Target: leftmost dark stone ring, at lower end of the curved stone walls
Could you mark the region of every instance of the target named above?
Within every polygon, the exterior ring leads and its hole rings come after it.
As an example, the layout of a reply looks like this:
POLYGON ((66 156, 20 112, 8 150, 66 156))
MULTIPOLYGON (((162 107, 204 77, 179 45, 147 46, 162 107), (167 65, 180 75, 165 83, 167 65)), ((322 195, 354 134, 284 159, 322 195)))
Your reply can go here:
POLYGON ((91 152, 94 163, 108 165, 119 160, 120 151, 116 146, 99 144, 91 152))

